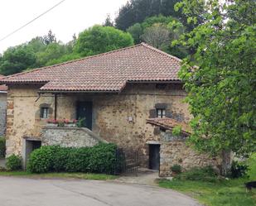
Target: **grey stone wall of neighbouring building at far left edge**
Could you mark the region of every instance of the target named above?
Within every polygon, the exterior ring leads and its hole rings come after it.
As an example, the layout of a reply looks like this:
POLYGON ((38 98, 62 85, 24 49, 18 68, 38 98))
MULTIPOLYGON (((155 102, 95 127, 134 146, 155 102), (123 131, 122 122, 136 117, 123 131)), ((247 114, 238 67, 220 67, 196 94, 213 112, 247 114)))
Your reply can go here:
POLYGON ((7 93, 0 93, 0 136, 5 136, 7 115, 7 93))

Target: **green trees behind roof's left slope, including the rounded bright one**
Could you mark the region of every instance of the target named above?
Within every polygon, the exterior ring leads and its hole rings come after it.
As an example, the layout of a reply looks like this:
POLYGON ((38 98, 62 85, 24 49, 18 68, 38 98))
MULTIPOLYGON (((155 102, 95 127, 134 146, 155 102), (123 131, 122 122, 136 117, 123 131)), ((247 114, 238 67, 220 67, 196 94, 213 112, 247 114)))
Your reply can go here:
POLYGON ((54 65, 83 56, 103 53, 133 45, 133 37, 111 26, 93 26, 67 44, 56 40, 49 31, 20 46, 8 48, 0 55, 0 73, 15 74, 25 69, 54 65))

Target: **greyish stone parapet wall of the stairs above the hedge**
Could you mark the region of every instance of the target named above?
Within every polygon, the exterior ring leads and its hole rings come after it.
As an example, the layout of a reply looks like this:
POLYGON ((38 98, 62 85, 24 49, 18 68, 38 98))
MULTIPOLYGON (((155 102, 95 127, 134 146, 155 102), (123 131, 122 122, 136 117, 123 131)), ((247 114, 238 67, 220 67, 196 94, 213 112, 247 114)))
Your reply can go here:
POLYGON ((59 145, 65 147, 95 146, 104 141, 87 128, 44 127, 41 132, 43 146, 59 145))

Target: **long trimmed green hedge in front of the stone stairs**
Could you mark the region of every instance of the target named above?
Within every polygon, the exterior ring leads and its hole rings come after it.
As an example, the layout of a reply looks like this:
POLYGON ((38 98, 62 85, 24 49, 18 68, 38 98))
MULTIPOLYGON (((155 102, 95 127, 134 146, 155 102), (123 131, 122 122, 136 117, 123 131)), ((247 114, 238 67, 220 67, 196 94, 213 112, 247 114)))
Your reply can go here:
POLYGON ((31 152, 27 170, 32 173, 92 172, 112 174, 117 146, 99 143, 93 147, 41 146, 31 152))

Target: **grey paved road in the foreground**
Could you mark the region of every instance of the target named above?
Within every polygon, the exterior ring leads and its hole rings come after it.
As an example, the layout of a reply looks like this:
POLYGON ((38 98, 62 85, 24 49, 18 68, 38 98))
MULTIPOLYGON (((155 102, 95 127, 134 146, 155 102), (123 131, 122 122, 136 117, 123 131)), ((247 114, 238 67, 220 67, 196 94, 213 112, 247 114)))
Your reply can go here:
POLYGON ((171 189, 94 180, 0 176, 1 206, 198 206, 171 189))

